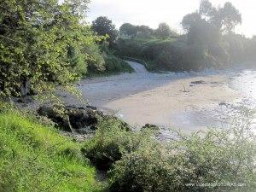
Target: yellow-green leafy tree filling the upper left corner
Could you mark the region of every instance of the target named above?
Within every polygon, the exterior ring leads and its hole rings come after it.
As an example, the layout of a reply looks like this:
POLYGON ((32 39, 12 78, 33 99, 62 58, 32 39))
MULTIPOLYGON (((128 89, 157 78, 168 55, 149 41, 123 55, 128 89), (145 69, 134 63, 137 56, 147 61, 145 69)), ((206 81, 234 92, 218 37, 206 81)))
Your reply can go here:
POLYGON ((86 2, 1 2, 1 95, 19 96, 26 83, 37 92, 52 90, 54 84, 67 85, 86 73, 91 55, 83 49, 99 40, 80 24, 79 6, 86 2))

